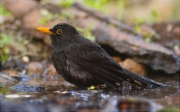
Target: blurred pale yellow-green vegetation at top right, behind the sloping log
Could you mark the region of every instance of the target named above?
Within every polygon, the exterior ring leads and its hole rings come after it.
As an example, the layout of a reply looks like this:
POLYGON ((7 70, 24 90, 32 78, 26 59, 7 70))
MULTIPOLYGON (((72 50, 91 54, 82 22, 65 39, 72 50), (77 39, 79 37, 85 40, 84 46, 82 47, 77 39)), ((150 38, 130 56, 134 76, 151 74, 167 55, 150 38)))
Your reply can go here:
POLYGON ((111 16, 115 17, 116 19, 123 20, 127 23, 154 23, 163 20, 178 20, 180 18, 180 2, 177 1, 166 1, 166 5, 170 4, 167 5, 167 8, 170 8, 171 10, 171 13, 169 11, 167 14, 162 13, 164 10, 163 7, 160 7, 159 9, 155 7, 156 5, 160 5, 160 2, 153 1, 144 1, 140 2, 140 4, 137 4, 136 2, 130 0, 83 0, 82 3, 95 10, 101 11, 106 14, 111 14, 111 16), (152 3, 154 6, 152 5, 152 3), (148 11, 143 11, 146 10, 146 7, 144 6, 147 6, 148 11), (137 15, 138 13, 144 13, 144 17, 134 16, 134 13, 136 13, 135 11, 138 8, 142 10, 137 10, 137 15), (135 9, 135 11, 133 11, 133 9, 135 9), (133 13, 133 16, 131 16, 131 13, 133 13))

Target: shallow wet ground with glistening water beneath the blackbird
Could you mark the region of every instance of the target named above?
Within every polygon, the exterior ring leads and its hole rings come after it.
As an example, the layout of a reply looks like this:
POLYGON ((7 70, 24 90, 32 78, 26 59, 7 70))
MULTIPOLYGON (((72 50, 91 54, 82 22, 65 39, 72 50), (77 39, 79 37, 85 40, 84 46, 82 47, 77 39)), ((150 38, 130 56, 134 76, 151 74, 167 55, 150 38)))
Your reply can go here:
POLYGON ((119 109, 156 111, 178 107, 179 76, 165 75, 153 79, 167 86, 156 89, 136 86, 118 89, 104 86, 101 89, 80 88, 69 84, 60 75, 10 76, 1 72, 1 111, 116 112, 119 109))

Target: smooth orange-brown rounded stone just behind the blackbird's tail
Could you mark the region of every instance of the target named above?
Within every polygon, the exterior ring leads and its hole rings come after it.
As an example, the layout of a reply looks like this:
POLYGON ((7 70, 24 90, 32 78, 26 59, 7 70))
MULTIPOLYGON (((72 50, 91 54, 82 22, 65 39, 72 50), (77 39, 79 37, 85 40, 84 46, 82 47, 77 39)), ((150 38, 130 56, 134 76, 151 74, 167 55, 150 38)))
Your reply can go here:
POLYGON ((136 74, 139 74, 141 76, 147 75, 147 71, 146 71, 145 67, 132 59, 126 59, 123 62, 120 62, 119 64, 122 67, 124 67, 136 74))

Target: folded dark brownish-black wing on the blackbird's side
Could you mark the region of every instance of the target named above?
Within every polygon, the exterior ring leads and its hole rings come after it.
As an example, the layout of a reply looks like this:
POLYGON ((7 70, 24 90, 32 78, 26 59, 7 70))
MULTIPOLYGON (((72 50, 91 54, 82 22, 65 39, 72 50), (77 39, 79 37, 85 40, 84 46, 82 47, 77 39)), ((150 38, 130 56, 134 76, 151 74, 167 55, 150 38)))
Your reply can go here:
POLYGON ((120 77, 122 67, 97 44, 92 42, 72 44, 64 51, 68 59, 96 79, 112 86, 123 81, 120 77))

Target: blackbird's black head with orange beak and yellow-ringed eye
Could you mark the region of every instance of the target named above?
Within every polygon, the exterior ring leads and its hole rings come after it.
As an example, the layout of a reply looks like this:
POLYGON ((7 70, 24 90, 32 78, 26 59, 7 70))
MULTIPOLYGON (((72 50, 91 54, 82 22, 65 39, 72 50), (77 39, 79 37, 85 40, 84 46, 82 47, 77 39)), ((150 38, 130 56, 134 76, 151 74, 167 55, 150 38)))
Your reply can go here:
POLYGON ((37 30, 49 34, 52 42, 71 40, 79 34, 73 26, 66 23, 56 24, 52 28, 38 27, 37 30))

